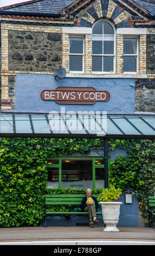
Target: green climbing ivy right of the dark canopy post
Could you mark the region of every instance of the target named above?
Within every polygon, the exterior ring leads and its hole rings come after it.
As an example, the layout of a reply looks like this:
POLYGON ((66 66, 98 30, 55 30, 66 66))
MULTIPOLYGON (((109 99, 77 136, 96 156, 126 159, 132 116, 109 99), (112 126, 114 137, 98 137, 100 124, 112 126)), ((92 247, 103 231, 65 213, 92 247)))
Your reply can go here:
POLYGON ((148 217, 148 196, 155 194, 155 141, 111 141, 112 148, 126 147, 127 157, 111 162, 109 184, 119 188, 133 187, 143 217, 148 217))

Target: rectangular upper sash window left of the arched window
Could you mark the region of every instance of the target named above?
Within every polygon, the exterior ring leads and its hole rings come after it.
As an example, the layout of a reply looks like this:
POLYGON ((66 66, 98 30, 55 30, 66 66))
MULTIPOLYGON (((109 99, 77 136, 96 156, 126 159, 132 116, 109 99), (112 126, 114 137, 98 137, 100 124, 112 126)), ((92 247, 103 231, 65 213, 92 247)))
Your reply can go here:
POLYGON ((69 71, 83 72, 84 44, 83 38, 69 38, 69 71))

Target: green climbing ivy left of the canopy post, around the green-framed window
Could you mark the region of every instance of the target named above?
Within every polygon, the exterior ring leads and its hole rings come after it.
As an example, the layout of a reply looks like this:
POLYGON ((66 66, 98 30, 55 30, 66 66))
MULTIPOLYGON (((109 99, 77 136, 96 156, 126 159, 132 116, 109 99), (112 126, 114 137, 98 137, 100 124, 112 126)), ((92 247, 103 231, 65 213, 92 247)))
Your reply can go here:
POLYGON ((87 154, 99 141, 87 139, 0 138, 0 227, 39 225, 47 193, 47 157, 87 154), (12 148, 14 147, 14 148, 12 148))

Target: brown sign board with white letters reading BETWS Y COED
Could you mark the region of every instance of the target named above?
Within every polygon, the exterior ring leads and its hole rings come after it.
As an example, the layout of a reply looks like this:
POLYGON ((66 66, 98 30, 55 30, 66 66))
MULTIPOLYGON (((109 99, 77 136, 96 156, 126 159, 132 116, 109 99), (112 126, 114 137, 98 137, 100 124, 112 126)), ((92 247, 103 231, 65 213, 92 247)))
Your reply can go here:
POLYGON ((43 100, 55 100, 58 104, 87 104, 93 105, 96 101, 107 101, 110 94, 104 90, 95 90, 93 87, 57 87, 55 90, 43 90, 43 100))

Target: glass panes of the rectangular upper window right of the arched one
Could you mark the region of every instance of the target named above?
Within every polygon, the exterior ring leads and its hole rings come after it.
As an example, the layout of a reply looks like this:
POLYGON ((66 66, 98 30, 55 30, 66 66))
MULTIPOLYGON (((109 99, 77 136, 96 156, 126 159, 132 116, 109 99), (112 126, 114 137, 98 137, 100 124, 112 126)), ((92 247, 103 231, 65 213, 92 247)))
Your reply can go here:
POLYGON ((124 38, 124 72, 137 72, 138 66, 137 38, 124 38))

